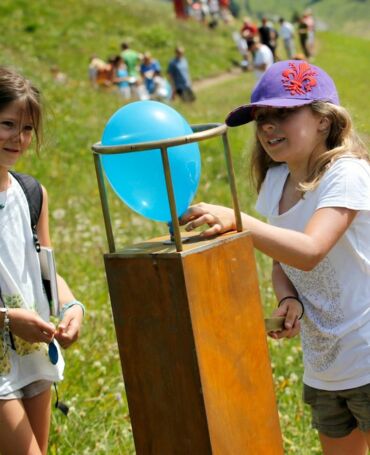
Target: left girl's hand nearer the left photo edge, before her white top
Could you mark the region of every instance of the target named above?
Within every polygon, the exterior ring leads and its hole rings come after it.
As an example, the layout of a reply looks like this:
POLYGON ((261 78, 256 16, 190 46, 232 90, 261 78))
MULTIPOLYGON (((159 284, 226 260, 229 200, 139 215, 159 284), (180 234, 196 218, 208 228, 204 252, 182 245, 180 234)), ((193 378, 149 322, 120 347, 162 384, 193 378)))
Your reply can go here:
POLYGON ((29 343, 50 343, 55 334, 55 325, 45 322, 37 313, 22 308, 8 310, 10 330, 29 343))

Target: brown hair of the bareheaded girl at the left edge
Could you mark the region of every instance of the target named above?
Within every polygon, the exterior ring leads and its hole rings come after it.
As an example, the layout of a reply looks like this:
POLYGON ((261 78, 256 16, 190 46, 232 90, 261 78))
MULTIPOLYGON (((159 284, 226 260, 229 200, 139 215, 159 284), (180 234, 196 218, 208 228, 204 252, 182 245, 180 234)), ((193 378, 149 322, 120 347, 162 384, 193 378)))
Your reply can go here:
POLYGON ((35 131, 36 150, 42 138, 42 108, 39 90, 25 77, 10 68, 0 66, 0 111, 10 103, 24 103, 24 114, 29 115, 35 131))

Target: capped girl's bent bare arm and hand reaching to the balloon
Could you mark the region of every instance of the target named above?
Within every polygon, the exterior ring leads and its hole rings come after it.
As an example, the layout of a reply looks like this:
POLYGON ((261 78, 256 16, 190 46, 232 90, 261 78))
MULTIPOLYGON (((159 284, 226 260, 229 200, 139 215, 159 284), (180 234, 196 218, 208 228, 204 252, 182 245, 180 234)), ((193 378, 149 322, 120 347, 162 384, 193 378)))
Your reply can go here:
MULTIPOLYGON (((244 229, 250 231, 254 246, 275 259, 300 270, 312 270, 336 244, 357 214, 343 207, 317 210, 304 232, 271 226, 242 213, 244 229)), ((211 204, 197 204, 183 215, 181 224, 191 231, 208 224, 202 235, 209 237, 235 229, 234 211, 211 204)))

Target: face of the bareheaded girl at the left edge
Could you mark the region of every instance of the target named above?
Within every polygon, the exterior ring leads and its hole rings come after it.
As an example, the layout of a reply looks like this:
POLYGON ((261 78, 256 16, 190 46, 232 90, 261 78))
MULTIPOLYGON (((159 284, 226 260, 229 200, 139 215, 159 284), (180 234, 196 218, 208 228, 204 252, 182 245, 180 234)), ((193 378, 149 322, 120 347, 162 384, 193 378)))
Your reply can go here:
POLYGON ((32 141, 33 122, 21 101, 0 111, 0 166, 11 168, 32 141))

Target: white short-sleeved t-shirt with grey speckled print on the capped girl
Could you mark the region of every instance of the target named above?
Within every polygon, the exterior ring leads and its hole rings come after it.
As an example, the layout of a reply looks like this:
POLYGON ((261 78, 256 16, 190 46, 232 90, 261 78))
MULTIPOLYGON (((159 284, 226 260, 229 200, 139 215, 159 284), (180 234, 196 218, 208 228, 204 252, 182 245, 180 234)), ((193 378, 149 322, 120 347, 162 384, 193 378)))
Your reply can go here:
POLYGON ((304 382, 323 390, 344 390, 370 383, 370 165, 343 157, 319 186, 279 215, 289 174, 285 164, 271 168, 256 209, 270 224, 304 231, 323 207, 358 210, 350 227, 328 255, 305 272, 281 264, 298 291, 302 319, 304 382))

